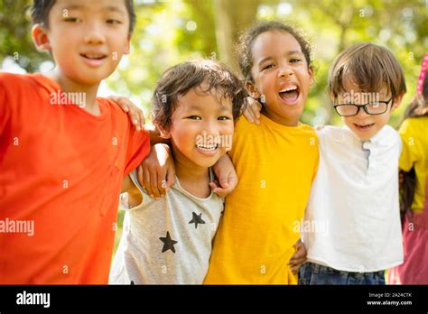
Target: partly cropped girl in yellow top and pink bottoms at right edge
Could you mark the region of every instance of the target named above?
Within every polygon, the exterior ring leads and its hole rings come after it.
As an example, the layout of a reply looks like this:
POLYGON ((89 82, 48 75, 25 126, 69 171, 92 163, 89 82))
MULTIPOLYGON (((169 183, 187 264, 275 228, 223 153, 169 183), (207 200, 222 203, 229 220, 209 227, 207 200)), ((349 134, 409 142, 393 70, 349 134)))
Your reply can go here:
POLYGON ((398 131, 403 141, 400 169, 405 263, 388 272, 388 283, 428 283, 428 53, 418 90, 398 131))

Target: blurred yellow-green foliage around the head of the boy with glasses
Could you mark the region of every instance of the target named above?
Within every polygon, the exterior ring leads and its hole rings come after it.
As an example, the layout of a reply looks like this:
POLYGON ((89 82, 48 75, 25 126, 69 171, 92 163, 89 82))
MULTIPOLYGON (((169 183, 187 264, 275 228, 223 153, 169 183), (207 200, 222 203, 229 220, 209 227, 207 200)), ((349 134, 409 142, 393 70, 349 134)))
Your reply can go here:
MULTIPOLYGON (((414 94, 421 58, 428 51, 427 1, 270 0, 259 6, 257 18, 284 20, 312 38, 316 83, 302 116, 306 123, 340 122, 325 93, 328 69, 334 57, 352 43, 374 42, 394 51, 404 68, 408 86, 404 105, 414 94)), ((391 125, 399 123, 404 108, 395 111, 391 125)))

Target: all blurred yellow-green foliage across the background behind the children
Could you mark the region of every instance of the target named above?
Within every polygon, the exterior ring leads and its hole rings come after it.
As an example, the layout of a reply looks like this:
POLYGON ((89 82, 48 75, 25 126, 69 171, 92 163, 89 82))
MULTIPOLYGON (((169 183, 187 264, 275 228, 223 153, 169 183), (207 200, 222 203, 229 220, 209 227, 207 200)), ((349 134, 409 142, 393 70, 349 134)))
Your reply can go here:
MULTIPOLYGON (((107 87, 118 95, 131 97, 150 112, 150 98, 160 74, 177 62, 218 55, 216 14, 245 14, 246 5, 235 1, 236 12, 215 10, 219 0, 135 1, 137 24, 132 51, 107 87)), ((256 1, 256 0, 255 0, 256 1)), ((49 60, 33 48, 29 0, 0 3, 0 61, 16 56, 23 69, 36 71, 49 60)), ((391 119, 398 125, 405 105, 413 97, 423 53, 428 51, 428 1, 425 0, 259 0, 256 19, 283 19, 309 35, 314 48, 316 81, 302 116, 311 125, 339 124, 326 95, 328 69, 334 57, 349 44, 375 42, 395 52, 405 69, 408 92, 391 119)), ((235 21, 231 21, 233 25, 235 21)), ((220 56, 222 57, 222 56, 220 56)))

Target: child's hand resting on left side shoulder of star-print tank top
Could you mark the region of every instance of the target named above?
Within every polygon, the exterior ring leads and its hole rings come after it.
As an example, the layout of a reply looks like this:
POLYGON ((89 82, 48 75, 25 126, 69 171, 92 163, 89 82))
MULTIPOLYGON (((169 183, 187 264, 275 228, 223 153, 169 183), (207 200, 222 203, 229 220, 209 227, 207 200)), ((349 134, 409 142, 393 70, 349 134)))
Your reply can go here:
POLYGON ((137 168, 140 185, 151 198, 166 195, 175 182, 175 168, 170 146, 157 143, 151 147, 149 155, 137 168))

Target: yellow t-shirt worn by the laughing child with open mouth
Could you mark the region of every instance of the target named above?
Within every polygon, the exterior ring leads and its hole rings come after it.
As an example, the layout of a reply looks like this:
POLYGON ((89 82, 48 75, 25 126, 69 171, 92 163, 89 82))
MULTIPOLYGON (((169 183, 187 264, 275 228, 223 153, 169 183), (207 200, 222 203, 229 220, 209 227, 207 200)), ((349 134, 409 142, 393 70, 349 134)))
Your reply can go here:
POLYGON ((260 125, 241 117, 235 130, 230 157, 239 182, 226 199, 204 283, 295 284, 287 264, 318 169, 317 135, 265 115, 260 125))

